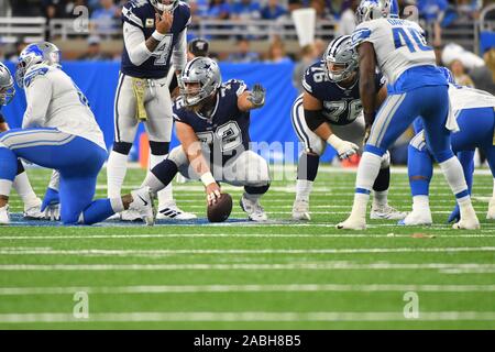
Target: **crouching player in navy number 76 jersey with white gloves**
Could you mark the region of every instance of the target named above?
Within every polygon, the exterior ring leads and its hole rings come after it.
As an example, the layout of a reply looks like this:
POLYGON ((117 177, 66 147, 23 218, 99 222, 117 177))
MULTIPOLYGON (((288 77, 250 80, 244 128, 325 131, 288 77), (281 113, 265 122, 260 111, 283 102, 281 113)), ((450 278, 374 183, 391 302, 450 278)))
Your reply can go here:
MULTIPOLYGON (((292 110, 294 130, 305 144, 297 169, 295 220, 310 220, 309 195, 327 143, 336 148, 341 160, 362 153, 365 129, 358 67, 351 36, 344 35, 330 43, 323 59, 311 65, 302 78, 305 92, 296 99, 292 110)), ((386 98, 386 88, 378 74, 375 75, 375 94, 380 106, 386 98)), ((389 154, 386 153, 373 186, 372 219, 400 220, 406 216, 388 205, 389 180, 389 154)))

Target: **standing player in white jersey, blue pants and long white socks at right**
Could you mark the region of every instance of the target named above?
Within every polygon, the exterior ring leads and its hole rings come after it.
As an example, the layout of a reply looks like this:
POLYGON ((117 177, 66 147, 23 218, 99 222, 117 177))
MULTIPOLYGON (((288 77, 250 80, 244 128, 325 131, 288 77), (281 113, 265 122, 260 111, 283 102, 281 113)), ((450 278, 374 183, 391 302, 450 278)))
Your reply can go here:
POLYGON ((352 42, 360 55, 364 118, 373 127, 358 168, 352 212, 337 228, 366 228, 366 205, 382 156, 420 116, 428 148, 460 206, 461 220, 453 227, 479 229, 462 166, 450 143, 451 131, 459 127, 449 108, 448 84, 436 66, 435 52, 427 45, 422 29, 416 22, 400 20, 395 4, 392 0, 363 0, 358 9, 360 24, 352 34, 352 42), (375 119, 376 67, 387 78, 388 98, 375 119))

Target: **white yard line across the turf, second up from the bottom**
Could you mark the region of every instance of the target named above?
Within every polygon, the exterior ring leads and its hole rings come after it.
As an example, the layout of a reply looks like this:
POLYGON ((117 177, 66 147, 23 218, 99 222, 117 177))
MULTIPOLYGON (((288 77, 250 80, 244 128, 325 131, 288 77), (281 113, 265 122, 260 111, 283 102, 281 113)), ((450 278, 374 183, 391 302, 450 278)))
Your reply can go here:
POLYGON ((195 293, 285 293, 285 292, 428 292, 428 293, 487 293, 495 285, 176 285, 176 286, 102 286, 102 287, 1 287, 0 296, 88 294, 195 294, 195 293))

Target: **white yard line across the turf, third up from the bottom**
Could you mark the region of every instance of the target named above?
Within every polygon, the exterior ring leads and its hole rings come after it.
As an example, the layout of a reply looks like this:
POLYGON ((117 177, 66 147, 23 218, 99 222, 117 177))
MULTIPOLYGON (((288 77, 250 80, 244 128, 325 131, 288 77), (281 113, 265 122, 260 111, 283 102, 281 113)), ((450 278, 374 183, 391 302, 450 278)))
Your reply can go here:
POLYGON ((391 264, 350 262, 289 263, 289 264, 3 264, 0 271, 389 271, 435 270, 442 274, 495 273, 495 264, 426 263, 391 264))

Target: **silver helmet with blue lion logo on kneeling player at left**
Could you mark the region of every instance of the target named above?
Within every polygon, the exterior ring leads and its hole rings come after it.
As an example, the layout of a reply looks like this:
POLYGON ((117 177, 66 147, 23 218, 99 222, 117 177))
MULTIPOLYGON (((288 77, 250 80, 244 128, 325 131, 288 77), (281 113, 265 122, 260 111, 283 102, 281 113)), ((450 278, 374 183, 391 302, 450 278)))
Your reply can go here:
POLYGON ((15 81, 19 87, 24 88, 24 76, 28 69, 40 64, 61 67, 61 51, 55 44, 48 42, 34 43, 28 45, 21 52, 15 68, 15 81))

